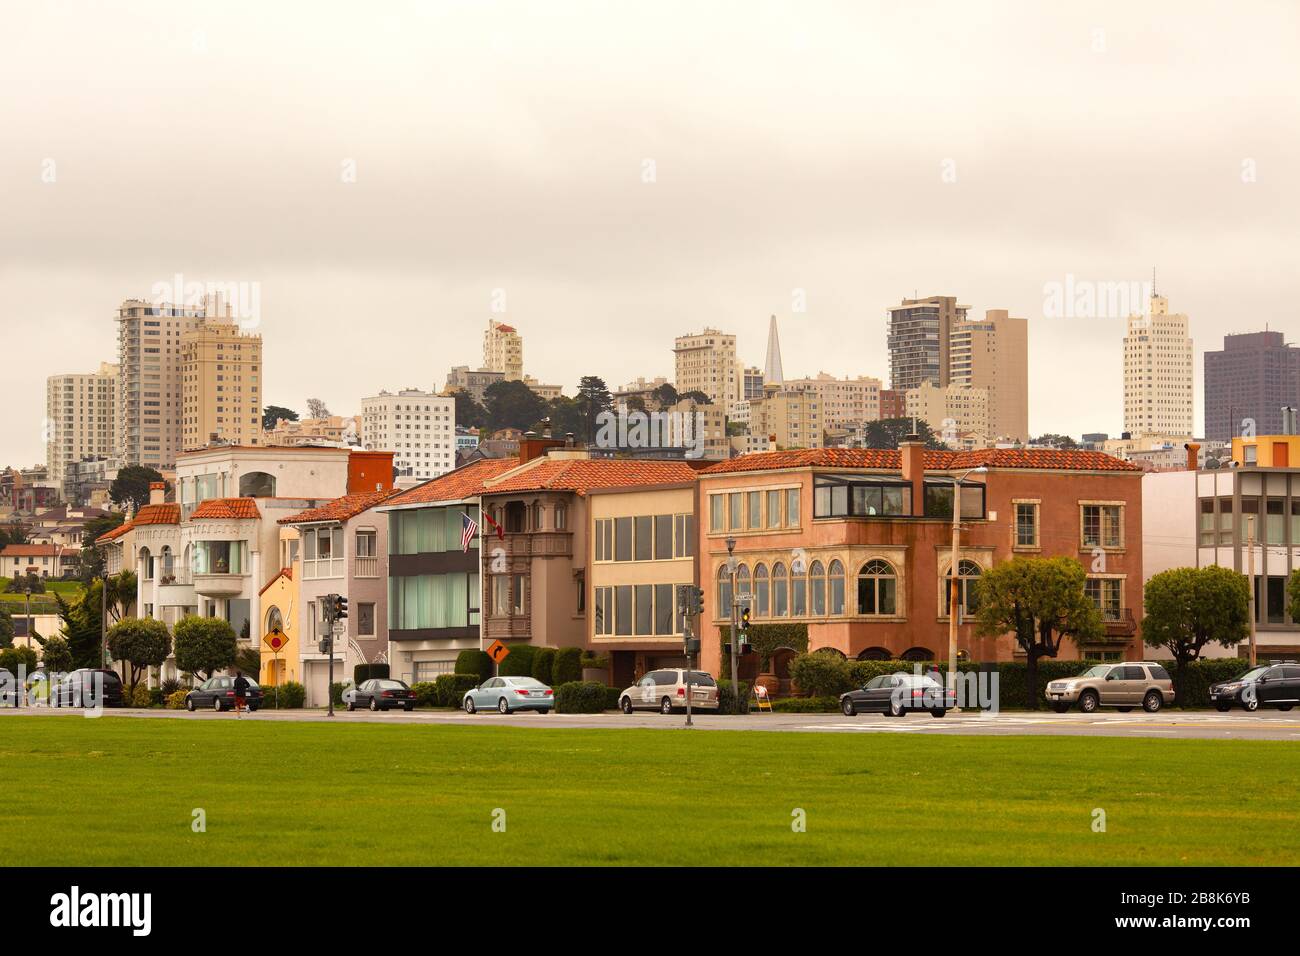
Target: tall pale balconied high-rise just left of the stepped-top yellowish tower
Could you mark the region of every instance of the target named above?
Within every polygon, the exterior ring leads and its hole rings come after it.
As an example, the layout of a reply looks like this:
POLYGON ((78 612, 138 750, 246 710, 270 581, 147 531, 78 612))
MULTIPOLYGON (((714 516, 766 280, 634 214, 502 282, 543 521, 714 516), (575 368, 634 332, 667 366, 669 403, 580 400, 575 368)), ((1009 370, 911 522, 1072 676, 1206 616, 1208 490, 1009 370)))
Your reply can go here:
POLYGON ((172 468, 181 441, 181 338, 202 307, 126 299, 117 310, 117 447, 122 464, 172 468))

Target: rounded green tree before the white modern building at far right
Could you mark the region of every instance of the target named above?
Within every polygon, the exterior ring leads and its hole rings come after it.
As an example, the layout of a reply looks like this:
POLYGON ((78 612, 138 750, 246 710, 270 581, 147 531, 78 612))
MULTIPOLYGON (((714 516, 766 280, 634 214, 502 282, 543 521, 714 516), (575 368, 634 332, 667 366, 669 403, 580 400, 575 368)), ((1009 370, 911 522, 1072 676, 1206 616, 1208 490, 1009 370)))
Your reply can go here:
MULTIPOLYGON (((1292 572, 1288 589, 1296 587, 1296 580, 1292 572)), ((1143 643, 1174 656, 1178 701, 1184 700, 1187 665, 1200 658, 1206 644, 1231 648, 1251 633, 1251 588, 1245 576, 1218 564, 1173 567, 1153 575, 1143 588, 1143 604, 1147 607, 1143 643)))

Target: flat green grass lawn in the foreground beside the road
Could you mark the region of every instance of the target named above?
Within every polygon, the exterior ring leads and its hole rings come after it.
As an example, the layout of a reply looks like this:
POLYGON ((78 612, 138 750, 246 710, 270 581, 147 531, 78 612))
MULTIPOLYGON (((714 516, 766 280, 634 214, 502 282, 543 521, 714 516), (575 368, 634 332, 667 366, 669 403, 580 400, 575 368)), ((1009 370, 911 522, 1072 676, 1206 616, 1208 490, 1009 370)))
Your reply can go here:
POLYGON ((1288 743, 484 724, 5 717, 0 845, 29 865, 1300 862, 1288 743))

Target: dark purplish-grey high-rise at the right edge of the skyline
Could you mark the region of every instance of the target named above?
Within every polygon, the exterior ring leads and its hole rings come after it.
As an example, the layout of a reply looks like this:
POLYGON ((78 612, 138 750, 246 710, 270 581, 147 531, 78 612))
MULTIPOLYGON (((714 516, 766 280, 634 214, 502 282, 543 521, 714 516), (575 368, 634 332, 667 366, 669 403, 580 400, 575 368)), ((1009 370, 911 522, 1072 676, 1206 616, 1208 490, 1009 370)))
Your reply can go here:
POLYGON ((1283 434, 1283 406, 1300 406, 1300 349, 1280 332, 1223 336, 1221 351, 1205 352, 1206 438, 1283 434))

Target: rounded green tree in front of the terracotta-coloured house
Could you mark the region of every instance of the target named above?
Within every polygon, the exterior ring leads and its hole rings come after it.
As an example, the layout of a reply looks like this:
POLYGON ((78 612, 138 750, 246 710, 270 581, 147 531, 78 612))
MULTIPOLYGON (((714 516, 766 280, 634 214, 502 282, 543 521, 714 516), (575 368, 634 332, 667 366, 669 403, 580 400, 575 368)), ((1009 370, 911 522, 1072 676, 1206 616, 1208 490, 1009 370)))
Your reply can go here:
POLYGON ((1056 657, 1061 640, 1096 640, 1101 611, 1084 591, 1088 576, 1072 558, 1011 558, 979 578, 975 631, 1013 633, 1024 650, 1026 705, 1039 709, 1039 658, 1056 657))

